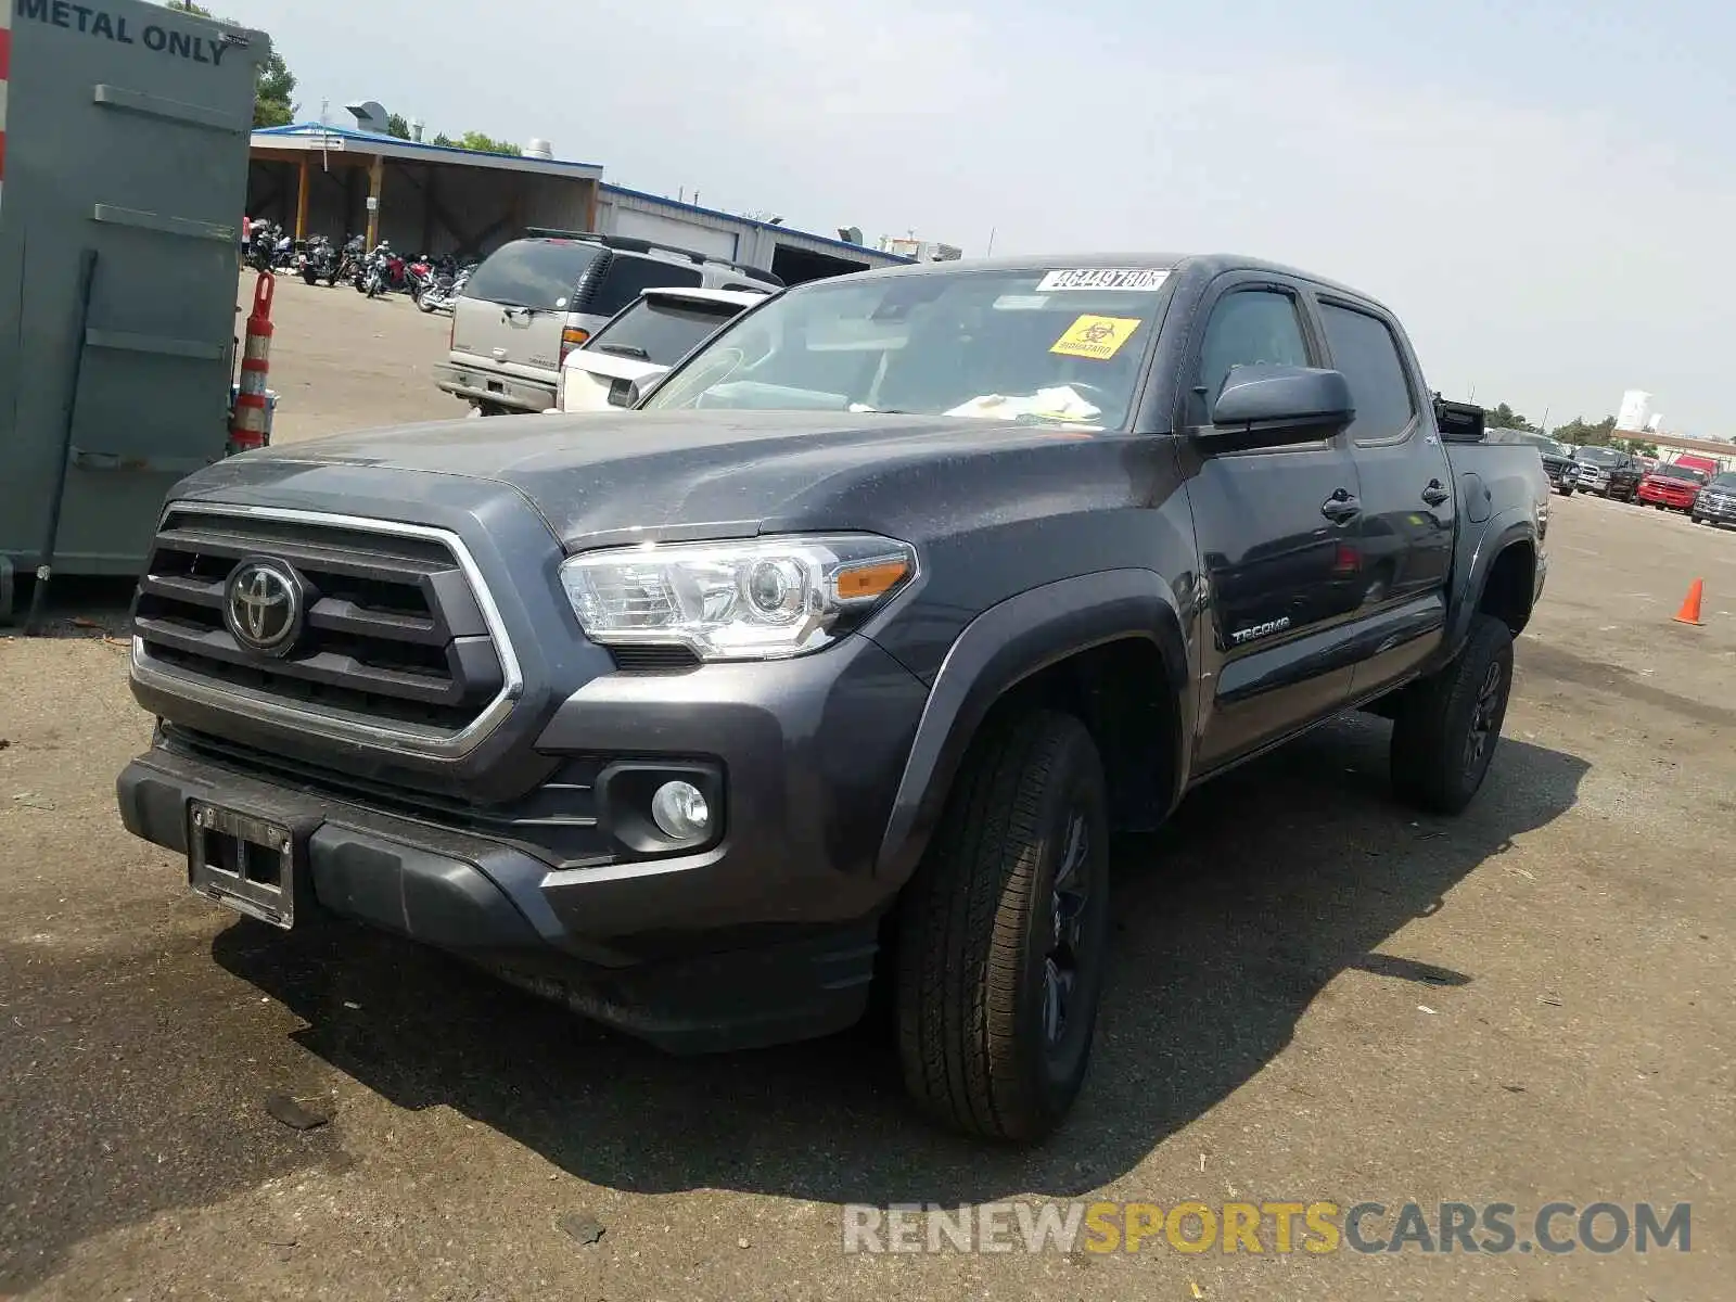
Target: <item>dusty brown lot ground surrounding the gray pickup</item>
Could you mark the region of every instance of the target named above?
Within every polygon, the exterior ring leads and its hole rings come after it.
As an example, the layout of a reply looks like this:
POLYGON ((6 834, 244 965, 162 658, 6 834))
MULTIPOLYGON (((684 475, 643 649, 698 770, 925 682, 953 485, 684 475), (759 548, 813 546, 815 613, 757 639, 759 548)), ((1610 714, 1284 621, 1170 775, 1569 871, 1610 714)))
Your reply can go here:
MULTIPOLYGON (((278 302, 279 439, 462 415, 427 378, 443 318, 278 302)), ((1036 1151, 929 1128, 868 1031, 677 1061, 380 936, 196 901, 115 814, 149 736, 122 646, 0 641, 0 1297, 1736 1297, 1736 531, 1554 516, 1467 814, 1394 804, 1387 724, 1351 719, 1118 847, 1095 1062, 1036 1151), (1670 616, 1696 576, 1693 628, 1670 616), (292 1130, 273 1094, 332 1120, 292 1130), (844 1203, 1007 1198, 1507 1201, 1521 1226, 1686 1201, 1693 1238, 842 1248, 844 1203)))

